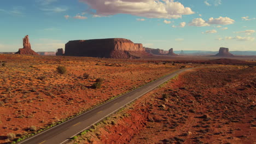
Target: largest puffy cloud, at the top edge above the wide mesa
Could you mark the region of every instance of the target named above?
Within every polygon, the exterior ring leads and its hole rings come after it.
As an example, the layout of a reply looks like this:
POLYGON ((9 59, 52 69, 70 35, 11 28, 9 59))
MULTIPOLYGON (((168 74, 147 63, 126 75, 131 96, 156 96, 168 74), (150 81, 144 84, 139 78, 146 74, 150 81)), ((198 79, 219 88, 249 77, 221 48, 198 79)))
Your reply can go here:
POLYGON ((97 15, 131 14, 148 18, 178 19, 194 14, 189 7, 173 0, 80 0, 96 10, 97 15))

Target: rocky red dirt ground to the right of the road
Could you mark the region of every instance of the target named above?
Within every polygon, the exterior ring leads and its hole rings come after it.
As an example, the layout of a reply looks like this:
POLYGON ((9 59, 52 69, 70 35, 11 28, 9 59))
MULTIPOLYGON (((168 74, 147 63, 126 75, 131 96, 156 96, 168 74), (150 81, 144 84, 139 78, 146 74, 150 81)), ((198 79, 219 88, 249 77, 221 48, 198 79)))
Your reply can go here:
POLYGON ((71 143, 253 144, 255 74, 255 67, 188 71, 71 143))

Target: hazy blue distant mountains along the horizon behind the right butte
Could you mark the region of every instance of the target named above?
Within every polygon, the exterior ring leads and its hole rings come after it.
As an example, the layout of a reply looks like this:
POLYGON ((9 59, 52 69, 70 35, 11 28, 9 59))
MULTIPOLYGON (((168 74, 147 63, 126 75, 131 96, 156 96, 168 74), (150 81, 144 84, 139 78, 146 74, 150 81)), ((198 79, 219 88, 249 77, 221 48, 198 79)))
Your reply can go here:
MULTIPOLYGON (((181 51, 174 51, 175 53, 181 53, 181 51)), ((216 55, 218 51, 185 51, 180 55, 216 55)), ((256 56, 256 51, 230 51, 233 55, 243 56, 256 56)))

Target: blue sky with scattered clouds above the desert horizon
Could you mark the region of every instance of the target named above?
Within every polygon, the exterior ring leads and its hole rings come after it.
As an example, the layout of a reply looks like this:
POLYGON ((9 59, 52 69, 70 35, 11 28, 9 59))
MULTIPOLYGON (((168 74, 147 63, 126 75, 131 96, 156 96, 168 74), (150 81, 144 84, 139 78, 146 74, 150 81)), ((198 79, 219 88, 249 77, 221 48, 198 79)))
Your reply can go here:
POLYGON ((56 51, 69 40, 126 38, 168 50, 256 51, 255 0, 1 0, 0 51, 56 51))

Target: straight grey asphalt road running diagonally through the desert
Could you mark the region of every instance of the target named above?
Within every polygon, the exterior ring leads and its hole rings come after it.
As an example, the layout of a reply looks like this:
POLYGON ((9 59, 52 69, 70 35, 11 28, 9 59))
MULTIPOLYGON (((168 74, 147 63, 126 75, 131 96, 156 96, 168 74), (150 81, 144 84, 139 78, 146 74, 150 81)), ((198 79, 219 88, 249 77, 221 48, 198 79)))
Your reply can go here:
POLYGON ((33 137, 30 137, 19 143, 23 144, 60 144, 66 143, 70 137, 73 137, 80 132, 91 127, 91 125, 100 122, 103 118, 108 117, 112 113, 118 111, 120 108, 131 103, 135 99, 142 95, 152 91, 162 83, 168 81, 172 77, 179 73, 182 73, 187 69, 180 69, 172 74, 169 74, 161 79, 155 80, 154 82, 148 83, 147 85, 137 88, 132 92, 121 95, 120 97, 108 101, 107 103, 96 107, 88 112, 83 113, 80 116, 70 119, 67 122, 56 125, 55 127, 43 131, 33 137))

